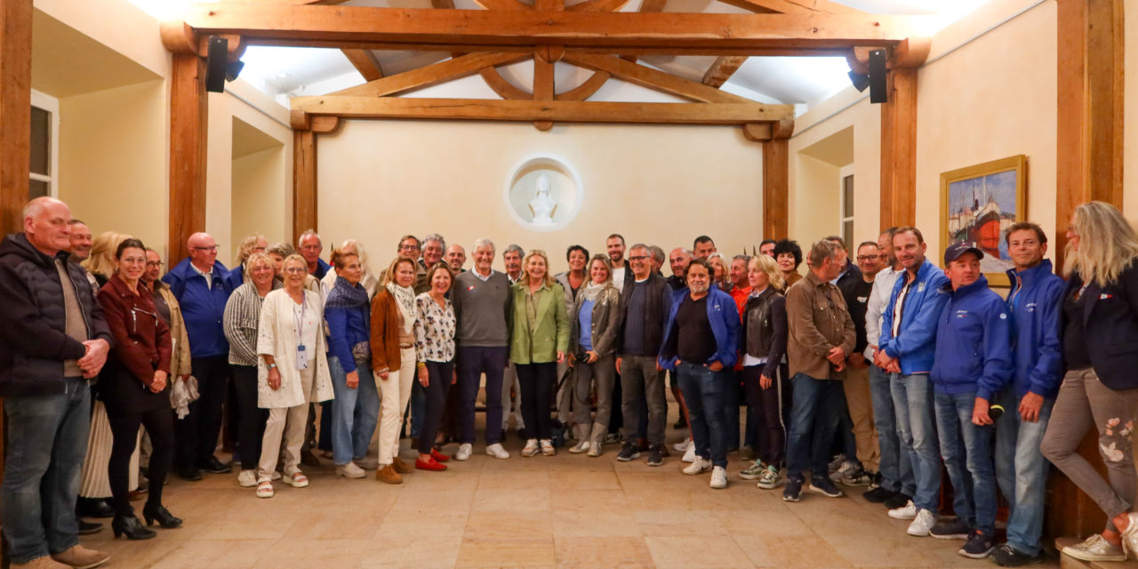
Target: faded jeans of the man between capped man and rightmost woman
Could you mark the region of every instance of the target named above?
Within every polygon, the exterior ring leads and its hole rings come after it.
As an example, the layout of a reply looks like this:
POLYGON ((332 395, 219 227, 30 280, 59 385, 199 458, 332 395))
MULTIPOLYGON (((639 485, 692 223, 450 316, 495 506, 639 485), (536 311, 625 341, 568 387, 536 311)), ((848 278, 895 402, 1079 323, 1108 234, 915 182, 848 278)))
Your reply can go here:
POLYGON ((996 480, 1007 498, 1007 543, 1016 551, 1036 555, 1044 533, 1044 495, 1052 464, 1039 450, 1047 432, 1055 399, 1044 399, 1039 421, 1023 422, 1020 401, 1009 387, 996 396, 1004 417, 996 422, 996 480))

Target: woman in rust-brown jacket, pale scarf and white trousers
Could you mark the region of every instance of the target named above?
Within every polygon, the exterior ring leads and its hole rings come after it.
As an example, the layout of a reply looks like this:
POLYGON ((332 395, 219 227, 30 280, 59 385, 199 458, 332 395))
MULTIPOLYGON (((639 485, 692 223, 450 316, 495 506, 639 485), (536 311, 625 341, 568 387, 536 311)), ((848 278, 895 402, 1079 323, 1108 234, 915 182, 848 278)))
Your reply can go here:
POLYGON ((379 379, 379 468, 376 479, 401 484, 411 468, 399 459, 399 427, 415 377, 417 263, 396 257, 371 299, 371 368, 379 379))

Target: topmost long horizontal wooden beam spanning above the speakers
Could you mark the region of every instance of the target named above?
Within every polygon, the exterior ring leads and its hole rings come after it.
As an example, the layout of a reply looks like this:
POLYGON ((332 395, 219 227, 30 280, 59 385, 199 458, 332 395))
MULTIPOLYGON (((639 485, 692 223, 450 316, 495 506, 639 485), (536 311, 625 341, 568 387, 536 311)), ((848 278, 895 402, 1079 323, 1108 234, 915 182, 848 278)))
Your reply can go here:
MULTIPOLYGON (((516 1, 516 0, 511 0, 516 1)), ((184 23, 199 35, 229 33, 256 44, 407 44, 418 49, 566 46, 609 52, 892 46, 923 16, 787 14, 642 14, 538 10, 335 8, 322 6, 190 5, 184 23)), ((178 25, 176 22, 170 23, 178 25)), ((727 53, 724 53, 727 55, 727 53)), ((805 53, 803 53, 805 55, 805 53)))

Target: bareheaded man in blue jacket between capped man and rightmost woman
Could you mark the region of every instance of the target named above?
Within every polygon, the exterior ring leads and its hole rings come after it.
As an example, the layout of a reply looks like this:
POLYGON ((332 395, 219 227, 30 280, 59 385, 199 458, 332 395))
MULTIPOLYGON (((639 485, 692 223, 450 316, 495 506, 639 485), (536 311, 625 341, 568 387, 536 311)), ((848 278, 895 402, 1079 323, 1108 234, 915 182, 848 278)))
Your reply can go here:
POLYGON ((1063 380, 1059 344, 1059 302, 1063 279, 1052 272, 1047 234, 1034 223, 1016 223, 1006 233, 1007 253, 1015 269, 1007 272, 1012 291, 1014 381, 996 401, 1007 410, 996 428, 996 480, 1011 504, 1007 543, 992 552, 1004 567, 1019 567, 1039 556, 1044 530, 1047 470, 1039 447, 1063 380))

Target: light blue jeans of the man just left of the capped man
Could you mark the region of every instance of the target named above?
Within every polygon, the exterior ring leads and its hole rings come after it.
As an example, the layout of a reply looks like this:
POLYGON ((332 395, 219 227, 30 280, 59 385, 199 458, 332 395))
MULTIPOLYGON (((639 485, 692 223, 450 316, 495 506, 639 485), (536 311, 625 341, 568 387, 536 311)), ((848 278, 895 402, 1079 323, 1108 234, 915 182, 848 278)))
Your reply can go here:
POLYGON ((940 448, 933 424, 932 382, 927 373, 891 373, 889 389, 897 409, 897 438, 900 460, 913 464, 916 492, 913 503, 932 513, 940 508, 940 448))

